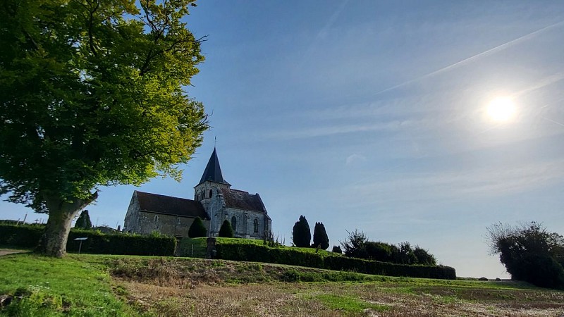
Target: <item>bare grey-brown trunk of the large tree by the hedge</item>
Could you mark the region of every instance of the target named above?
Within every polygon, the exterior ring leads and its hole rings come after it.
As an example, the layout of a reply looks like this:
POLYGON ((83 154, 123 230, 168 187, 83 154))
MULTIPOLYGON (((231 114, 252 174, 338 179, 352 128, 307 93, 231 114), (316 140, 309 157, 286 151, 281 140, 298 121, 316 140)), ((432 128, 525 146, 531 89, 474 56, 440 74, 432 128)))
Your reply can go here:
POLYGON ((73 218, 98 196, 92 194, 91 199, 74 199, 72 202, 54 197, 45 197, 49 219, 45 226, 39 245, 35 251, 46 256, 62 258, 66 254, 68 232, 71 232, 73 218))

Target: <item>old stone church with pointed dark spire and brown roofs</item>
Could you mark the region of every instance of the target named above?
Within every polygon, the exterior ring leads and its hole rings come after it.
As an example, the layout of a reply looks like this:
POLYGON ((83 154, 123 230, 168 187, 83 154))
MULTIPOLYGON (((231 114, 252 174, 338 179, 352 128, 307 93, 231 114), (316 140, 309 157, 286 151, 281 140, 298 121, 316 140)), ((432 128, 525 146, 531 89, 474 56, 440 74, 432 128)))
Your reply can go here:
POLYGON ((194 199, 170 197, 135 190, 125 214, 124 232, 148 235, 160 232, 188 237, 195 218, 200 217, 208 235, 216 237, 228 220, 235 237, 269 239, 272 220, 259 194, 232 189, 221 173, 214 148, 200 182, 194 187, 194 199))

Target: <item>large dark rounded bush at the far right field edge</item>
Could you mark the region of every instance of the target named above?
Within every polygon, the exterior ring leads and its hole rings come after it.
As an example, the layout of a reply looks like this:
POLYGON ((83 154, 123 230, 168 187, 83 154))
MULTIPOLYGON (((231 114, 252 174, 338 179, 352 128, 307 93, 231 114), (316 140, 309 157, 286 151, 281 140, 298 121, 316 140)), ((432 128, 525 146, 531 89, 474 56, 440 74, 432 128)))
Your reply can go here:
POLYGON ((564 237, 536 222, 496 223, 487 228, 492 254, 499 254, 511 278, 541 287, 564 288, 564 237))

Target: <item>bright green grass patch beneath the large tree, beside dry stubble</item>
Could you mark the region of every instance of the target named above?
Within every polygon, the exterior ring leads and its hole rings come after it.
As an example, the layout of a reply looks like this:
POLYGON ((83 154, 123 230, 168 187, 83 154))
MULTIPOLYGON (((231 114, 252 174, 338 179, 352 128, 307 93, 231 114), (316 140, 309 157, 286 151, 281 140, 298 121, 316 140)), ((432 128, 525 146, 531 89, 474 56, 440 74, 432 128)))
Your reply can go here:
POLYGON ((106 266, 80 257, 52 259, 34 254, 0 257, 0 294, 25 294, 10 305, 20 316, 130 316, 118 300, 106 266), (61 315, 62 316, 62 315, 61 315))

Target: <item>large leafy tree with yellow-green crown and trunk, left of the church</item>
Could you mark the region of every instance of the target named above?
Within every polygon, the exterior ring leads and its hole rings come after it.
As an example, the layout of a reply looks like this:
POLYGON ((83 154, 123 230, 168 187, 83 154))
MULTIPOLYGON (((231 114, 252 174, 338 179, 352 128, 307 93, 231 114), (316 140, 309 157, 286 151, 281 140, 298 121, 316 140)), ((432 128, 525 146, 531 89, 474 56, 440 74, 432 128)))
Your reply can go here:
POLYGON ((192 2, 2 2, 0 194, 49 213, 37 251, 65 254, 100 186, 180 180, 208 128, 183 89, 204 60, 192 2))

